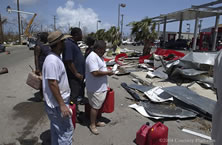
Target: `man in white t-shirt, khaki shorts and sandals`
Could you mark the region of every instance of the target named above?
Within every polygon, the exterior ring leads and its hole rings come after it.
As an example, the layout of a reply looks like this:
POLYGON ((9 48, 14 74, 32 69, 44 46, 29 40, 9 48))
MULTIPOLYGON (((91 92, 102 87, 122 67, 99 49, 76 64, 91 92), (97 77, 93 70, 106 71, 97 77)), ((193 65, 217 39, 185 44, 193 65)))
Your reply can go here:
POLYGON ((86 90, 91 106, 90 110, 90 130, 98 135, 96 126, 105 126, 104 122, 97 122, 98 110, 102 107, 107 93, 107 75, 113 75, 112 71, 107 71, 106 63, 102 56, 105 53, 106 43, 98 40, 94 44, 93 51, 86 58, 86 90))

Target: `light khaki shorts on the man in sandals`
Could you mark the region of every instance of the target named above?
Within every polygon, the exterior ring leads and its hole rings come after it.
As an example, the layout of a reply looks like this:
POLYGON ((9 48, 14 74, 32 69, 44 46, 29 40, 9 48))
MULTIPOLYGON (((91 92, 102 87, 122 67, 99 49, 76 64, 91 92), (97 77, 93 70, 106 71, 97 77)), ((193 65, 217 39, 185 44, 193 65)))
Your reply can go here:
POLYGON ((100 109, 106 99, 106 94, 107 91, 98 93, 87 92, 90 106, 94 109, 100 109))

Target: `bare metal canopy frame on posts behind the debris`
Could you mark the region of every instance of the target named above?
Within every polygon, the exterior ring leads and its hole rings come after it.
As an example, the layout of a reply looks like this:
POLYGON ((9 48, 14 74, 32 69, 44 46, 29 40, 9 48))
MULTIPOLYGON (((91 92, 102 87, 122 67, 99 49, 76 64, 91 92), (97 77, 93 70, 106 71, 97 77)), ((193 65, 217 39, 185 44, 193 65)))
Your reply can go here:
MULTIPOLYGON (((158 25, 163 24, 163 40, 164 40, 164 47, 165 47, 165 38, 166 38, 166 24, 171 22, 180 22, 179 25, 179 39, 181 39, 181 32, 182 32, 182 23, 184 20, 195 20, 195 29, 194 29, 194 41, 193 47, 191 51, 196 50, 196 43, 197 43, 197 32, 198 32, 198 24, 199 19, 214 17, 216 16, 215 21, 215 28, 214 35, 213 35, 213 48, 212 50, 215 51, 216 48, 216 39, 217 39, 217 29, 219 24, 220 15, 222 15, 222 6, 213 7, 214 5, 221 4, 222 0, 217 0, 213 2, 209 2, 206 4, 202 4, 199 6, 191 6, 191 8, 184 9, 181 11, 176 11, 168 14, 161 14, 160 16, 153 17, 152 22, 157 23, 158 25)), ((159 26, 158 26, 159 28, 159 26)), ((159 29, 158 29, 159 31, 159 29)), ((158 34, 160 34, 158 32, 158 34)))

